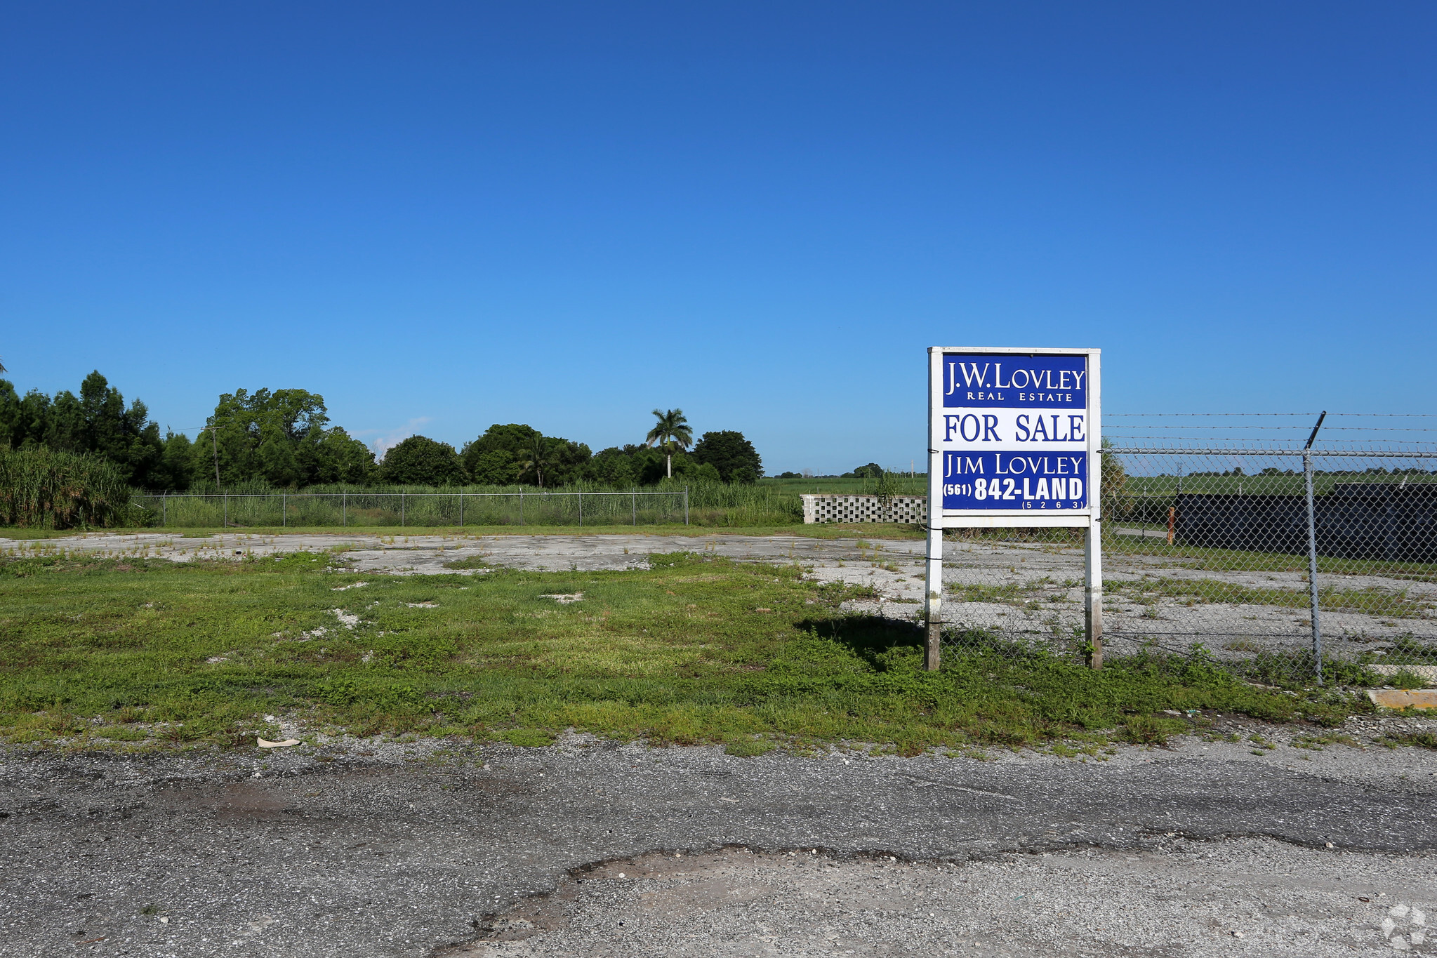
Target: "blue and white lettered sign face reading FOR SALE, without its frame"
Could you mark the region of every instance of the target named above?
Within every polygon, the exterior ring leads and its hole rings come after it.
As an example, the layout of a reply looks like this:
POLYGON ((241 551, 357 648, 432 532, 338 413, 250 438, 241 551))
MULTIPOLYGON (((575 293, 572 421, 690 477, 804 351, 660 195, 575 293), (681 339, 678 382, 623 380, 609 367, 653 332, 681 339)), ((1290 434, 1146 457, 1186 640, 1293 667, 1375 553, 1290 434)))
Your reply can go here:
POLYGON ((1088 508, 1088 358, 944 353, 944 510, 1088 508))

